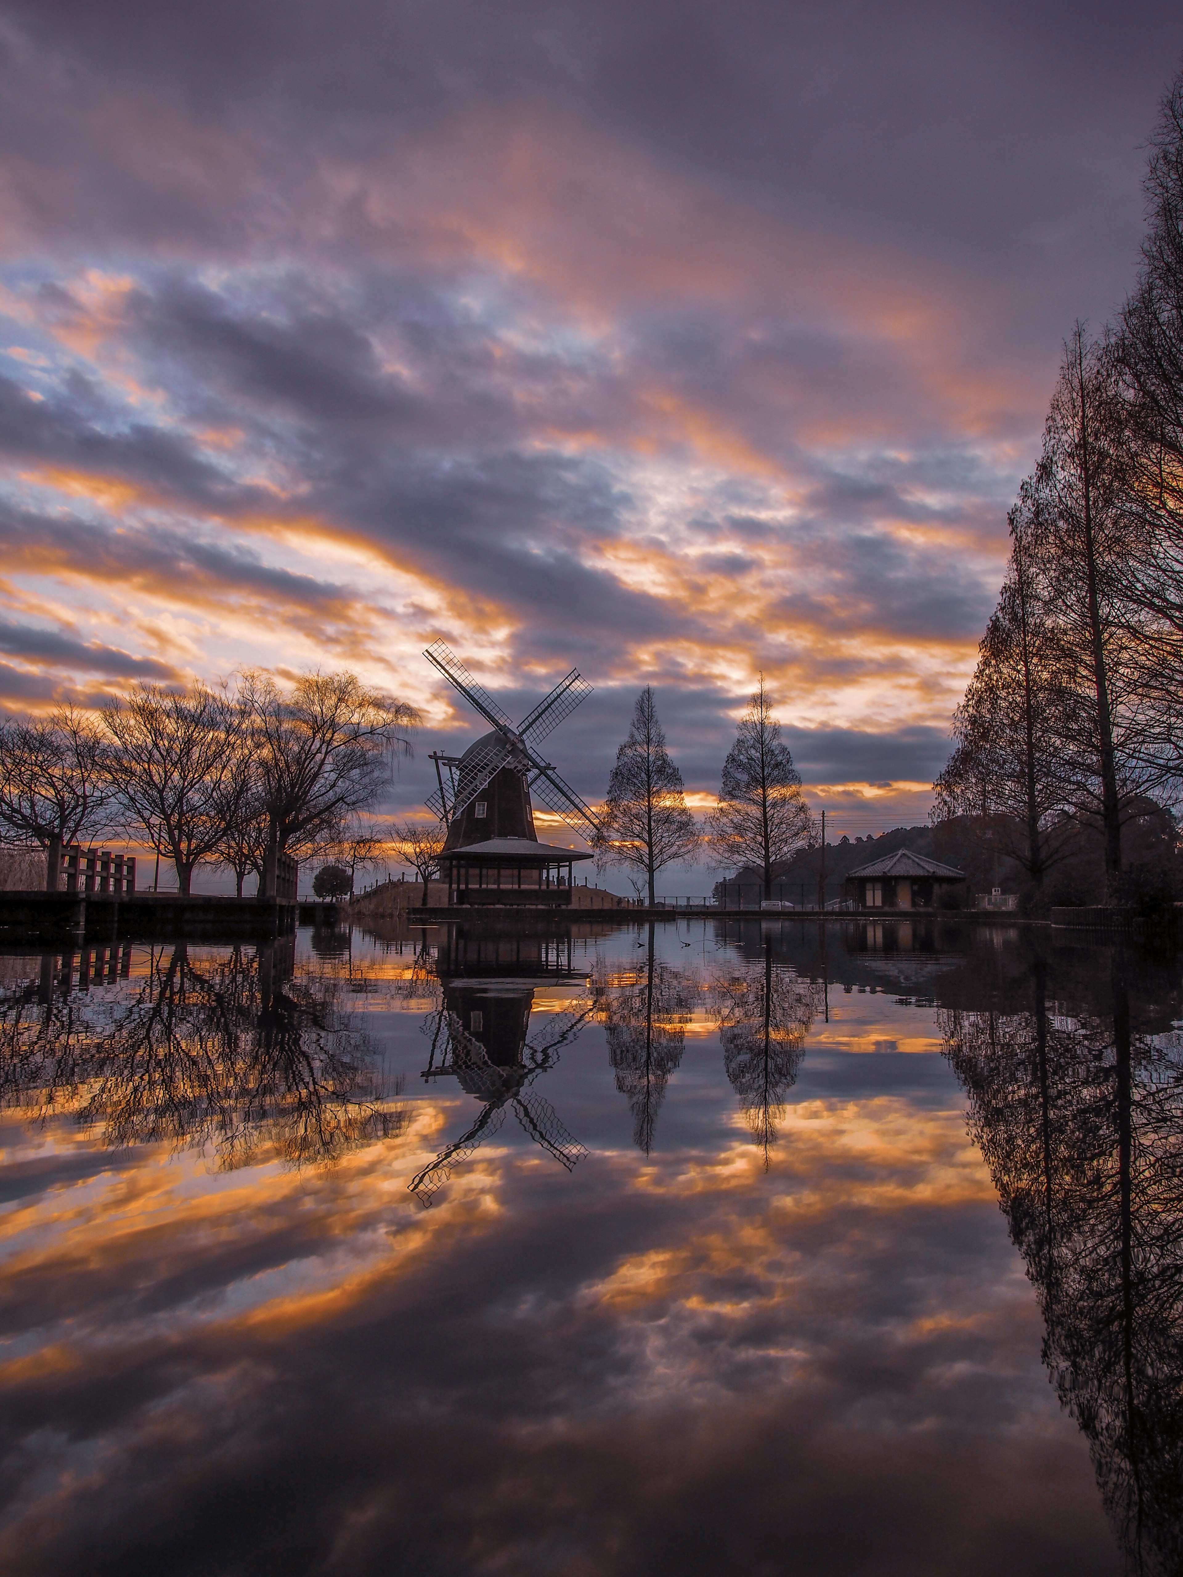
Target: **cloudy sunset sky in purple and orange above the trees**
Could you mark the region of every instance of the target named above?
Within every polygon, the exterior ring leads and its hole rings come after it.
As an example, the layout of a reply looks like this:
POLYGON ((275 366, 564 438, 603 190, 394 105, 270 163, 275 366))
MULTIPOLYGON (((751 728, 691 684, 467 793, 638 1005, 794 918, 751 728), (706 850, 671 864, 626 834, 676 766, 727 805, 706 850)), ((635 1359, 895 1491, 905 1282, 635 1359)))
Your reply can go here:
POLYGON ((350 665, 412 804, 443 637, 580 667, 588 796, 651 681, 707 795, 763 670, 817 804, 923 814, 1177 5, 0 16, 3 705, 350 665))

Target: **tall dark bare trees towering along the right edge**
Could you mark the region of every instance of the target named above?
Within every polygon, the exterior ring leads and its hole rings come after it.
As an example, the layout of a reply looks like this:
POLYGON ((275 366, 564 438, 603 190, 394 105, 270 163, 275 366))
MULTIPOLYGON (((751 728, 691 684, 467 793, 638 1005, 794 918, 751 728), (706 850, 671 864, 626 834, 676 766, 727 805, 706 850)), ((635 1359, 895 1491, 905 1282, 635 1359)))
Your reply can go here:
POLYGON ((1036 889, 1052 842, 1071 836, 1063 817, 1092 828, 1112 902, 1156 880, 1125 869, 1125 828, 1148 801, 1174 803, 1183 770, 1183 74, 1145 191, 1142 268, 1117 328, 1090 339, 1077 323, 1065 345, 1013 514, 1022 563, 1013 555, 935 785, 942 815, 965 814, 976 790, 1024 823, 1008 852, 1036 889), (1028 706, 1013 683, 1006 705, 995 694, 1002 670, 1013 680, 1017 596, 1041 681, 1028 706))

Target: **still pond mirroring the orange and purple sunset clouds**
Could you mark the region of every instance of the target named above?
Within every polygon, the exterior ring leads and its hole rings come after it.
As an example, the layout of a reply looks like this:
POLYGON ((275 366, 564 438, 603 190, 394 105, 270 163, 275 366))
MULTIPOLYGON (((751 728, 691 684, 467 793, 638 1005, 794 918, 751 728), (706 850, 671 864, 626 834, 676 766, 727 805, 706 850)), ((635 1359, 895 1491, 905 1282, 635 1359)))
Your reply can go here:
POLYGON ((1178 1572, 1183 973, 1062 938, 0 957, 0 1568, 1178 1572))

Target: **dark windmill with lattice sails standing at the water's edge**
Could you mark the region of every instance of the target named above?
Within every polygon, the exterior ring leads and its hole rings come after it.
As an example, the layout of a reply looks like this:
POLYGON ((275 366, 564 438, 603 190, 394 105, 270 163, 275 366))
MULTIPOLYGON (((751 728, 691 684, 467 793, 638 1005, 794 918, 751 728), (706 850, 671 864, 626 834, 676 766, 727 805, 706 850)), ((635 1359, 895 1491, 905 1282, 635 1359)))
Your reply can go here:
POLYGON ((427 661, 492 724, 464 755, 432 754, 438 781, 427 806, 446 826, 440 871, 450 905, 544 905, 571 902, 571 869, 592 855, 543 844, 532 793, 574 831, 596 836, 590 806, 563 782, 538 746, 592 692, 576 669, 514 725, 467 667, 437 640, 427 661))

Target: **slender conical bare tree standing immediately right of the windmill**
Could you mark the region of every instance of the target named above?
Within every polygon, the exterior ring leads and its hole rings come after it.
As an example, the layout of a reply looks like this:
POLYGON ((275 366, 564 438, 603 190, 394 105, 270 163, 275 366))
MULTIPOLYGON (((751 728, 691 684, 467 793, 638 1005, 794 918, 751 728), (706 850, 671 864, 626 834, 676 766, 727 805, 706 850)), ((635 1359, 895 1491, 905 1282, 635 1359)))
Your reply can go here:
POLYGON ((617 751, 601 825, 601 863, 644 871, 650 907, 658 871, 699 852, 699 830, 686 809, 681 773, 666 749, 650 684, 637 695, 628 738, 617 751))

